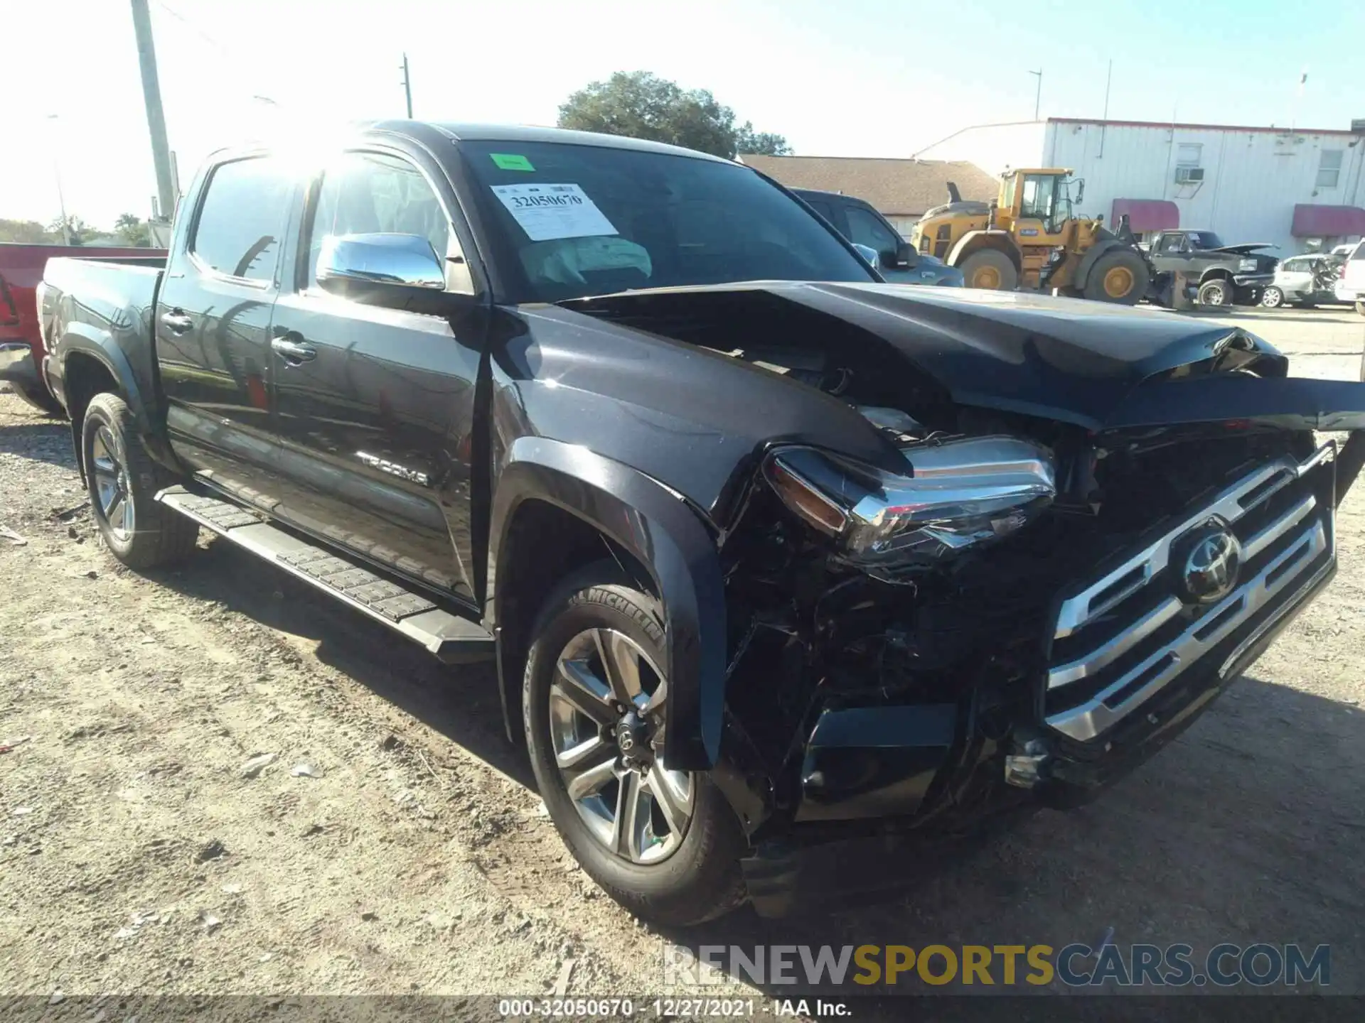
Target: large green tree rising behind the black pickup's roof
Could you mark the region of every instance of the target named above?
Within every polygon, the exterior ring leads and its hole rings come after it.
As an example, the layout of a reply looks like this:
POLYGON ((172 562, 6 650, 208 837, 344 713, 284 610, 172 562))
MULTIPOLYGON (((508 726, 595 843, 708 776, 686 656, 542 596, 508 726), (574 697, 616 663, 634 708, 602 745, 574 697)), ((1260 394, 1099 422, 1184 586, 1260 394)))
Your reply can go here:
POLYGON ((736 125, 734 110, 706 89, 682 89, 648 71, 617 71, 591 82, 560 108, 560 127, 669 142, 713 155, 790 153, 781 135, 736 125), (740 143, 759 146, 743 149, 740 143))

